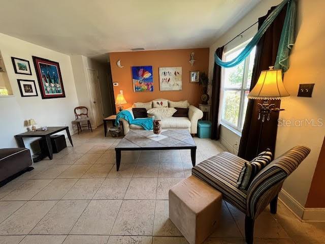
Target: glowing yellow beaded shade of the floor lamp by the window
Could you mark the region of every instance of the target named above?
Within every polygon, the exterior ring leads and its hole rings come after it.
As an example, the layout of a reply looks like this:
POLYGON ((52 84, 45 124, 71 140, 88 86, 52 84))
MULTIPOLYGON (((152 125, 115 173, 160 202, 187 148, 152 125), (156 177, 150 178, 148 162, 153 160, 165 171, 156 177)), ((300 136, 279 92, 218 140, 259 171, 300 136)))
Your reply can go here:
POLYGON ((263 70, 254 88, 247 95, 249 99, 275 100, 289 97, 282 81, 282 70, 263 70))

